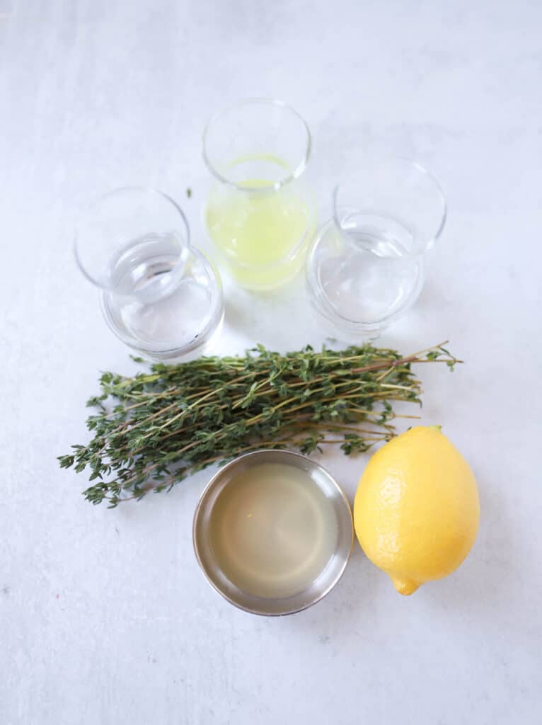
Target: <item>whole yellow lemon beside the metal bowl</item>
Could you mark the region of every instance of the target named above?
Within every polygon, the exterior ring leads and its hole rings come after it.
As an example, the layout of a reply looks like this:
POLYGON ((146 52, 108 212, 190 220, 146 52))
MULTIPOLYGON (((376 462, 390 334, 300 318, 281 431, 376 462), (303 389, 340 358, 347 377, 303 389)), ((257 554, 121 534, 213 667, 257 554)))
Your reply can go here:
POLYGON ((462 563, 479 518, 475 477, 440 426, 417 426, 385 444, 354 500, 362 549, 404 595, 462 563))

